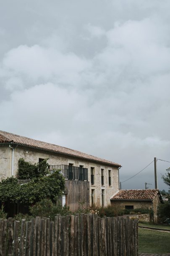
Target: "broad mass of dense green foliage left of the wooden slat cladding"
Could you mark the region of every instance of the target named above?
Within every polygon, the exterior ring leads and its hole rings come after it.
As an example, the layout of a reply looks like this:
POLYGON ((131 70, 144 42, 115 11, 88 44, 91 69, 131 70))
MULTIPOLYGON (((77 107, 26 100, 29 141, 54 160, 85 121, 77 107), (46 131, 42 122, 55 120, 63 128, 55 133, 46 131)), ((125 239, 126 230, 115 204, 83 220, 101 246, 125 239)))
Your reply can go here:
POLYGON ((10 177, 0 182, 0 200, 34 204, 44 198, 54 200, 64 189, 65 180, 58 170, 49 176, 40 176, 22 185, 18 184, 16 178, 10 177))

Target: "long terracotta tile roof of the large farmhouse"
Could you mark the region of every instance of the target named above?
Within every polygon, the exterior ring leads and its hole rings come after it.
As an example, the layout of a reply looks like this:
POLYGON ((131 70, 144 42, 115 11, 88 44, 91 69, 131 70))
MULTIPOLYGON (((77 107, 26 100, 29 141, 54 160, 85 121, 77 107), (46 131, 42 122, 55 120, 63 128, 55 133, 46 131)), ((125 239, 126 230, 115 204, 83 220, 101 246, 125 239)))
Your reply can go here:
POLYGON ((8 133, 5 131, 0 131, 0 143, 8 143, 13 142, 21 145, 25 145, 28 147, 34 147, 37 149, 44 149, 51 152, 56 152, 63 155, 68 155, 71 157, 78 157, 85 160, 92 160, 98 163, 108 164, 108 165, 114 165, 114 166, 121 166, 118 163, 114 163, 102 158, 94 157, 92 155, 87 155, 85 153, 79 152, 74 149, 68 149, 66 147, 61 147, 55 144, 50 144, 43 141, 37 141, 35 139, 29 139, 27 137, 19 136, 13 133, 8 133))

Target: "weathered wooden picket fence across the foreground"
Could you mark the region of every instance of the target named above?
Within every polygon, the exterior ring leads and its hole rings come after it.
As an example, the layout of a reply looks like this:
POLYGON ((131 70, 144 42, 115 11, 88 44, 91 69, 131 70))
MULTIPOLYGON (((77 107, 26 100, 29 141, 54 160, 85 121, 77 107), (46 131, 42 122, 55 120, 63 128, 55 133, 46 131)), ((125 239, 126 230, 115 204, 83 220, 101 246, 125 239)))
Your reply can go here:
POLYGON ((138 221, 95 214, 0 219, 0 256, 137 256, 138 221))

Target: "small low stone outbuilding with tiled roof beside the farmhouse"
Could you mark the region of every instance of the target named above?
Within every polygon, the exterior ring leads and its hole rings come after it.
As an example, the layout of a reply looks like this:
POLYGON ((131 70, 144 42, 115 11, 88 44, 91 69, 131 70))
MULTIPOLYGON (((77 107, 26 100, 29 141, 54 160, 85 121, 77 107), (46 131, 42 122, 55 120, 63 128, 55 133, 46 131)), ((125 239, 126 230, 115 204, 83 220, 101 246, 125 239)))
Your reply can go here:
POLYGON ((111 205, 114 205, 118 209, 152 209, 155 223, 157 223, 158 205, 163 202, 158 189, 119 190, 111 197, 110 201, 111 205))

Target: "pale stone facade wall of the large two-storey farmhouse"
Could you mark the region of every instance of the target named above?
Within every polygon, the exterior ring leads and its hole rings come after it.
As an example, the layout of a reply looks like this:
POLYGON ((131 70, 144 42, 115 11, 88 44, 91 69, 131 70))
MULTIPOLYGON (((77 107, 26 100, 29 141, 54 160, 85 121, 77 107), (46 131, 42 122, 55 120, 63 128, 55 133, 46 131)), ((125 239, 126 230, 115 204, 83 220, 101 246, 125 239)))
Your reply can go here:
MULTIPOLYGON (((14 176, 18 170, 18 160, 23 157, 26 161, 31 163, 38 163, 39 158, 49 158, 50 165, 68 165, 72 163, 74 166, 83 165, 88 168, 88 180, 90 181, 89 199, 91 204, 91 192, 94 189, 94 203, 101 205, 102 202, 102 189, 104 193, 104 205, 110 204, 110 197, 118 191, 118 168, 110 165, 100 165, 99 163, 90 162, 78 158, 66 157, 57 153, 45 152, 39 149, 31 149, 29 147, 18 146, 14 150, 14 176), (91 167, 94 167, 94 185, 91 185, 91 167), (101 185, 101 168, 104 169, 104 186, 101 185), (111 170, 111 186, 108 181, 108 170, 111 170)), ((8 145, 0 146, 0 178, 5 179, 11 176, 11 163, 12 163, 12 149, 8 145)))

